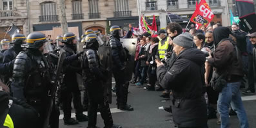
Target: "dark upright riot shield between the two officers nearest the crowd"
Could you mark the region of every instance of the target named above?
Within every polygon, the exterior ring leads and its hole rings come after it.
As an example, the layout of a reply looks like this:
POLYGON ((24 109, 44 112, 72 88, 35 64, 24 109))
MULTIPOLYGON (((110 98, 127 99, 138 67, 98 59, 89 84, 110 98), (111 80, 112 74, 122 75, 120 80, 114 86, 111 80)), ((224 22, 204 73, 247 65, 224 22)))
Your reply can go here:
POLYGON ((106 83, 104 83, 104 97, 108 102, 112 103, 112 70, 111 70, 111 64, 112 64, 112 58, 111 58, 111 47, 110 46, 104 46, 99 47, 98 49, 98 55, 99 60, 101 62, 101 66, 108 70, 108 75, 106 83))

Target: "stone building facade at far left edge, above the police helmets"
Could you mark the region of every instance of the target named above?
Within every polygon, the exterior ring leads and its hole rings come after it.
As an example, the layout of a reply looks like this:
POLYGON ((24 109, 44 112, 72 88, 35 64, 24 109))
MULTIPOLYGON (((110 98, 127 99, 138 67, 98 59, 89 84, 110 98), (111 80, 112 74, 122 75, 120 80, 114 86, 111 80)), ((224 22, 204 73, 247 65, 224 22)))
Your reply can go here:
POLYGON ((28 34, 28 13, 26 0, 0 0, 0 40, 10 40, 6 31, 14 24, 20 33, 28 34))

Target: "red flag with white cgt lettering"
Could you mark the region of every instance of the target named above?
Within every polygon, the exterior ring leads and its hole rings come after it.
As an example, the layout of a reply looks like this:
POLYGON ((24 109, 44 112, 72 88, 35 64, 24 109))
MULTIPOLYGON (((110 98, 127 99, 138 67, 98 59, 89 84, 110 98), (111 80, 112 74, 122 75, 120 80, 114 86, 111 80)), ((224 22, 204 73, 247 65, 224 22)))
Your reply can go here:
POLYGON ((205 0, 202 0, 195 8, 195 12, 193 13, 190 21, 198 24, 198 26, 208 26, 208 24, 212 21, 214 14, 210 6, 206 3, 205 0))

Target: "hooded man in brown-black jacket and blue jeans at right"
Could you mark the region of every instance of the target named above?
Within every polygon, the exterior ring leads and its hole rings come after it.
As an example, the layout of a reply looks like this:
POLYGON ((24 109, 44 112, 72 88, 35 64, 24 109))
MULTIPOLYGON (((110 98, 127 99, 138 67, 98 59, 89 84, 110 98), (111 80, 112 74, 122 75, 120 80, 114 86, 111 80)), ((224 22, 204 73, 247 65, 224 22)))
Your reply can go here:
MULTIPOLYGON (((230 34, 230 29, 226 27, 218 27, 213 30, 215 42, 214 56, 209 51, 210 56, 206 61, 215 68, 215 72, 219 76, 223 76, 222 84, 217 84, 222 85, 217 104, 217 109, 221 116, 221 127, 228 127, 230 125, 228 109, 231 103, 231 107, 239 117, 241 127, 245 128, 249 126, 239 91, 242 79, 242 61, 239 51, 235 48, 237 46, 233 43, 233 40, 228 39, 230 34), (224 81, 226 81, 226 84, 224 81)), ((217 76, 213 77, 217 79, 217 76)))

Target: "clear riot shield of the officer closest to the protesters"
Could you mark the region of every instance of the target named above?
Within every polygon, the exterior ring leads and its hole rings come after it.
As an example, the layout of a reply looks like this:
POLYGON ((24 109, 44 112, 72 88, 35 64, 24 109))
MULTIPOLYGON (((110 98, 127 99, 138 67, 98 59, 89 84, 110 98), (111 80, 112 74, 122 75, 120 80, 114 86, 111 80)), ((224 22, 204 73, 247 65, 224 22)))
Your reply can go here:
POLYGON ((120 39, 123 47, 129 51, 128 61, 126 61, 126 68, 124 70, 126 81, 132 79, 132 72, 134 67, 135 51, 137 46, 137 38, 121 38, 120 39))

